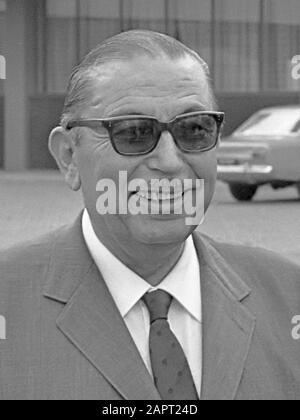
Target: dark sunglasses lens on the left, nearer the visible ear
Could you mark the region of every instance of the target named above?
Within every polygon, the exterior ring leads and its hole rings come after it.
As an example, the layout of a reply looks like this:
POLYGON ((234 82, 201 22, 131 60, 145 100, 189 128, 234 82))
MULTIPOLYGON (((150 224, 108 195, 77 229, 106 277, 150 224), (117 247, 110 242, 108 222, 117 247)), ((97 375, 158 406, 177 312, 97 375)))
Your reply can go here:
POLYGON ((156 142, 155 122, 149 119, 115 121, 112 137, 118 152, 122 154, 142 154, 153 148, 156 142))

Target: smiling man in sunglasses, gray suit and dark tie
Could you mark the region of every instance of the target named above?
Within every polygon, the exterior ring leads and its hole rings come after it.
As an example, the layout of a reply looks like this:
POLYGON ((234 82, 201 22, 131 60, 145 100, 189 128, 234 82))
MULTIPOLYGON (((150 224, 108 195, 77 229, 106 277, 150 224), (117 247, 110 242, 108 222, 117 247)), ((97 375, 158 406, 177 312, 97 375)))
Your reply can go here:
POLYGON ((161 211, 200 179, 208 209, 222 120, 203 60, 165 35, 117 35, 75 69, 49 144, 85 211, 1 254, 2 399, 300 398, 300 268, 161 211), (121 172, 146 183, 125 204, 158 212, 100 214, 121 172))

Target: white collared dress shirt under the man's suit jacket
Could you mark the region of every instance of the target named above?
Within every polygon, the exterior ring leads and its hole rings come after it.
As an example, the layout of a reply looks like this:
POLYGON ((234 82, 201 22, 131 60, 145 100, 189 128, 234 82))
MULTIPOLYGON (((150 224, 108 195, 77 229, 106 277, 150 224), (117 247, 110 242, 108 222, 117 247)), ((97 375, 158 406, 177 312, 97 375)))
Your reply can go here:
POLYGON ((162 289, 173 296, 169 309, 169 324, 180 342, 190 365, 200 397, 202 381, 202 308, 200 267, 194 242, 190 236, 176 266, 157 286, 124 265, 98 239, 87 210, 83 213, 82 231, 92 258, 120 311, 121 316, 151 374, 149 354, 149 312, 142 296, 162 289))

